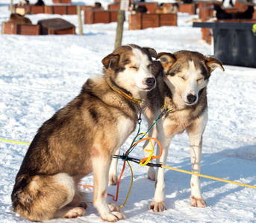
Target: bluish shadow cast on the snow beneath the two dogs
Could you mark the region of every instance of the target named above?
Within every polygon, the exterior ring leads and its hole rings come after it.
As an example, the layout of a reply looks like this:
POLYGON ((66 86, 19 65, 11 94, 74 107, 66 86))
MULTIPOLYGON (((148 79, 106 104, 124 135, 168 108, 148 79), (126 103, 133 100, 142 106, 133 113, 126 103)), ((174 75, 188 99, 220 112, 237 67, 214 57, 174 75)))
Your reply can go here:
MULTIPOLYGON (((255 185, 255 175, 253 171, 249 171, 249 169, 255 169, 256 155, 254 160, 252 160, 252 158, 249 160, 246 158, 245 151, 252 155, 255 155, 256 153, 255 146, 226 149, 216 154, 203 153, 201 173, 230 181, 255 185)), ((137 164, 133 163, 131 163, 131 165, 134 171, 134 182, 131 188, 131 193, 128 196, 128 201, 125 206, 122 207, 122 212, 127 219, 143 213, 149 213, 149 204, 151 204, 154 198, 155 182, 147 178, 146 167, 137 167, 137 164), (143 168, 145 172, 143 174, 137 174, 136 172, 138 168, 143 168)), ((190 157, 182 159, 178 164, 172 164, 172 162, 167 161, 166 166, 190 171, 190 157)), ((125 172, 129 172, 130 169, 128 167, 126 168, 125 172)), ((166 169, 165 202, 167 210, 178 208, 176 205, 184 206, 184 204, 187 204, 187 207, 190 207, 190 178, 191 175, 189 174, 166 169), (181 203, 179 201, 181 201, 181 203)), ((202 195, 205 198, 207 207, 214 207, 221 199, 223 199, 223 197, 225 198, 228 195, 240 192, 245 188, 234 184, 226 184, 227 183, 221 181, 201 178, 202 195), (224 187, 225 189, 223 189, 224 187)), ((119 186, 118 201, 114 202, 111 197, 108 197, 109 201, 122 205, 125 202, 130 185, 131 175, 123 177, 119 186)), ((109 186, 108 193, 116 197, 116 186, 109 186)), ((150 212, 152 212, 152 210, 150 210, 150 212)), ((90 214, 97 215, 97 211, 93 206, 89 207, 85 216, 90 214)))

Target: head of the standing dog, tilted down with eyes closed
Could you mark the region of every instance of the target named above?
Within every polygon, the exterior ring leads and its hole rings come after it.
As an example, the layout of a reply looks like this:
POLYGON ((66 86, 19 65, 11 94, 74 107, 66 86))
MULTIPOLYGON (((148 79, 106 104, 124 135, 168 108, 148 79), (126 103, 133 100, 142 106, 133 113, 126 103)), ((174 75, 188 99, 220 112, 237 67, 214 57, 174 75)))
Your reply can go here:
POLYGON ((178 51, 159 53, 164 70, 164 80, 181 103, 192 106, 199 100, 199 91, 207 86, 212 71, 222 67, 222 62, 198 52, 178 51))

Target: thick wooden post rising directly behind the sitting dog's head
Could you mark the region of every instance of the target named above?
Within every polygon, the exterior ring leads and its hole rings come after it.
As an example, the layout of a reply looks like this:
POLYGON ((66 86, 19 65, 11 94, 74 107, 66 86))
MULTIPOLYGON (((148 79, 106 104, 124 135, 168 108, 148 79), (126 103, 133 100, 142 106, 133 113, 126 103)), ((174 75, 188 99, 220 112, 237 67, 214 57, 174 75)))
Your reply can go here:
POLYGON ((128 8, 127 2, 128 2, 127 0, 119 1, 115 48, 118 48, 120 45, 122 45, 122 31, 123 31, 124 21, 125 21, 125 9, 126 7, 128 8))

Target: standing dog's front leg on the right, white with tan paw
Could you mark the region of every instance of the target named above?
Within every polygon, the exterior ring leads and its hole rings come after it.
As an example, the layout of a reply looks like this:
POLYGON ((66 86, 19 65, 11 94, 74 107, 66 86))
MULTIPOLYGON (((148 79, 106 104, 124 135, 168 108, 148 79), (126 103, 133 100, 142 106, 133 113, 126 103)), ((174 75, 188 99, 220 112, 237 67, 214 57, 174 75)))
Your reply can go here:
MULTIPOLYGON (((206 123, 205 123, 206 124, 206 123)), ((202 133, 205 126, 199 123, 193 125, 192 128, 187 129, 187 134, 190 138, 190 158, 192 164, 192 171, 200 173, 201 157, 202 157, 202 133)), ((202 198, 200 177, 197 175, 191 176, 191 205, 194 207, 206 207, 204 198, 202 198)))

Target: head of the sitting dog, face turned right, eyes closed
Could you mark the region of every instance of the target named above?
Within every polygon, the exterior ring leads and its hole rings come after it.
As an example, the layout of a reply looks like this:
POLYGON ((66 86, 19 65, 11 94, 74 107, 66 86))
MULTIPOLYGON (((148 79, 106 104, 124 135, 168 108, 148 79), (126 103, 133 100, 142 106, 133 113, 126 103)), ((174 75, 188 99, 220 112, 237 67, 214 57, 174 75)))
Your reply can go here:
POLYGON ((104 75, 111 83, 132 94, 150 91, 156 85, 151 71, 152 56, 157 56, 157 52, 152 48, 121 46, 102 59, 104 75))

